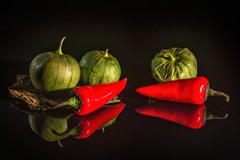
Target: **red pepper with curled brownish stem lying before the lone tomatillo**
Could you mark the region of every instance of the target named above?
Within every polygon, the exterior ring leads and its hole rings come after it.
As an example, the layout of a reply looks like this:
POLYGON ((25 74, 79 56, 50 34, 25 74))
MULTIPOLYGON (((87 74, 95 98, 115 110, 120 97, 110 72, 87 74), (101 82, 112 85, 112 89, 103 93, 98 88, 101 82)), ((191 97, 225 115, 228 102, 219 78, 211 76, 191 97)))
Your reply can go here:
POLYGON ((181 103, 203 104, 207 96, 215 95, 224 96, 227 102, 230 100, 227 94, 209 88, 208 79, 204 76, 162 82, 136 91, 151 98, 181 103))

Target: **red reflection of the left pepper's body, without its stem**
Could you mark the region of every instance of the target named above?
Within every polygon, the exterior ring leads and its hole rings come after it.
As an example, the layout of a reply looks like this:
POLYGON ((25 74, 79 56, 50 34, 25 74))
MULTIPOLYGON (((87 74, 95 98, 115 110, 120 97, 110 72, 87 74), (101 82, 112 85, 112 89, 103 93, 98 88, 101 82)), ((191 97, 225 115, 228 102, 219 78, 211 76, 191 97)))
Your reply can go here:
POLYGON ((91 136, 96 130, 101 126, 109 122, 110 120, 117 117, 122 110, 125 108, 125 103, 120 102, 116 106, 102 107, 96 112, 85 116, 79 116, 78 126, 79 126, 79 135, 75 136, 76 139, 85 139, 91 136))

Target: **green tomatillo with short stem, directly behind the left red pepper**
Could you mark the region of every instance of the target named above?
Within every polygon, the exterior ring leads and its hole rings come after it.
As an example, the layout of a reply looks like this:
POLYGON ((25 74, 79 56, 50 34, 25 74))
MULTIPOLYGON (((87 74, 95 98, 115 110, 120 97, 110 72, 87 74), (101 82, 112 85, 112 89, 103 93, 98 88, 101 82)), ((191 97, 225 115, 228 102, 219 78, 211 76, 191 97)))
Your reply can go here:
POLYGON ((83 84, 99 84, 116 82, 121 76, 118 60, 106 51, 87 52, 79 62, 81 82, 83 84))

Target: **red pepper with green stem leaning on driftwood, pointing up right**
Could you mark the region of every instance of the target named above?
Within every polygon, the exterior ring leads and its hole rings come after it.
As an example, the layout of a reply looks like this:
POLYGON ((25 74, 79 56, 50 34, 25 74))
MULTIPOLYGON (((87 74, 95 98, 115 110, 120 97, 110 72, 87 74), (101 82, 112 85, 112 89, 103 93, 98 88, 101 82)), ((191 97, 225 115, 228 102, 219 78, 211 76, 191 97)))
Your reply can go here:
POLYGON ((126 86, 127 78, 118 82, 79 86, 73 89, 72 97, 54 108, 61 106, 71 106, 76 108, 77 115, 89 114, 112 100, 126 86))

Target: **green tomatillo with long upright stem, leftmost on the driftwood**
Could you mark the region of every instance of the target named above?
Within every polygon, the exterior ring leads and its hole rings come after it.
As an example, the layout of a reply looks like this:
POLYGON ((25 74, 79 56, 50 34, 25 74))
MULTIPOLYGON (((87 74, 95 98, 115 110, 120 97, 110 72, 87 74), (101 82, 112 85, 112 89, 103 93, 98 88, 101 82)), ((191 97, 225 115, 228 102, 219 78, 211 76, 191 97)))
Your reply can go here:
POLYGON ((62 39, 56 52, 38 54, 29 67, 29 76, 35 89, 54 92, 74 88, 81 75, 78 61, 62 53, 62 39))

